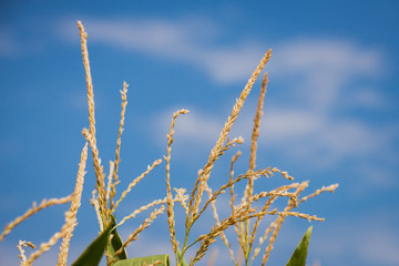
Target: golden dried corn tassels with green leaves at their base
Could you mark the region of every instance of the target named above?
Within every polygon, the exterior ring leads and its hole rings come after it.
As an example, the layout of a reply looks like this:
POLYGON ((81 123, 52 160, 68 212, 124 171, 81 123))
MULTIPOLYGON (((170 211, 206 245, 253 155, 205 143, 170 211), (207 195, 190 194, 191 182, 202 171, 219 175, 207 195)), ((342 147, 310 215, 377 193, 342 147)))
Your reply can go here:
MULTIPOLYGON (((235 266, 241 265, 253 265, 254 259, 262 255, 262 265, 266 265, 270 252, 273 249, 274 243, 276 241, 277 234, 280 231, 282 224, 287 216, 296 216, 310 221, 324 221, 315 215, 304 214, 300 212, 294 211, 298 205, 308 198, 319 195, 323 192, 334 192, 338 184, 334 184, 327 187, 321 187, 316 192, 300 197, 300 193, 308 186, 308 181, 301 183, 291 183, 294 177, 291 177, 287 172, 280 171, 277 167, 264 167, 256 168, 256 150, 257 150, 257 137, 259 135, 259 124, 260 117, 263 114, 263 101, 266 93, 267 84, 267 74, 264 75, 260 94, 258 99, 258 105, 254 119, 254 127, 250 140, 250 160, 248 170, 245 173, 239 175, 234 174, 234 165, 241 156, 238 151, 232 158, 229 176, 226 178, 226 183, 221 187, 212 190, 208 186, 208 180, 212 175, 212 170, 217 162, 217 160, 223 156, 228 150, 236 147, 242 144, 244 140, 239 137, 229 139, 229 132, 235 123, 245 100, 247 99, 249 92, 253 89, 253 85, 256 79, 262 73, 265 64, 272 57, 272 50, 269 50, 264 58, 260 60, 259 65, 255 69, 254 73, 249 78, 247 84, 242 91, 239 98, 236 100, 232 113, 228 116, 226 123, 224 124, 221 134, 216 141, 216 144, 209 153, 208 161, 205 163, 204 167, 198 171, 198 175, 195 178, 193 190, 190 194, 186 194, 186 188, 173 188, 171 185, 171 158, 172 158, 172 143, 174 136, 175 121, 181 114, 188 113, 187 110, 178 110, 172 115, 172 122, 170 126, 170 132, 167 134, 167 147, 166 155, 163 156, 163 160, 156 160, 149 165, 147 170, 142 173, 140 176, 134 178, 129 186, 123 191, 123 193, 116 197, 116 186, 119 184, 119 164, 120 150, 121 150, 121 136, 124 126, 125 110, 127 105, 127 84, 123 83, 123 89, 121 91, 122 95, 122 111, 121 120, 119 126, 119 134, 116 140, 116 152, 115 160, 110 162, 110 172, 108 176, 104 172, 102 161, 100 158, 100 152, 96 146, 95 137, 95 117, 94 117, 94 93, 92 85, 92 76, 90 71, 89 63, 89 53, 86 39, 88 34, 84 31, 83 24, 78 21, 78 27, 80 30, 81 45, 82 45, 82 57, 83 65, 85 68, 85 80, 88 86, 88 105, 89 105, 89 129, 83 129, 82 134, 86 140, 86 143, 81 153, 81 161, 78 170, 78 177, 75 182, 74 192, 62 198, 51 198, 43 200, 39 205, 33 204, 32 208, 28 209, 22 216, 16 218, 8 225, 6 225, 4 231, 0 235, 0 242, 21 222, 29 218, 31 215, 40 212, 43 208, 55 204, 65 204, 71 203, 70 209, 65 213, 65 223, 62 226, 61 231, 55 233, 47 243, 40 245, 38 249, 35 246, 25 241, 20 241, 18 248, 20 250, 20 265, 32 265, 32 263, 40 257, 44 252, 50 249, 59 239, 62 238, 61 248, 59 253, 59 259, 57 265, 64 266, 66 265, 68 254, 69 254, 69 244, 72 237, 72 233, 76 225, 76 214, 81 205, 81 195, 83 190, 84 176, 85 176, 85 166, 88 158, 88 150, 92 152, 93 157, 93 167, 95 173, 96 186, 92 193, 91 203, 94 206, 99 225, 100 234, 99 236, 90 244, 90 246, 82 250, 81 256, 72 264, 73 266, 83 266, 83 265, 99 265, 103 256, 106 257, 108 266, 150 266, 150 265, 170 265, 170 256, 166 255, 153 255, 149 257, 140 258, 129 258, 125 248, 137 239, 139 235, 151 226, 152 222, 164 212, 167 215, 167 223, 170 229, 170 241, 172 244, 172 249, 174 256, 172 260, 177 266, 185 265, 195 265, 197 264, 204 255, 207 253, 209 246, 214 244, 217 237, 221 237, 224 245, 228 248, 228 252, 232 257, 232 264, 235 266), (125 196, 132 191, 132 188, 143 180, 153 168, 157 167, 162 162, 165 163, 165 192, 160 192, 160 195, 165 193, 163 197, 154 200, 152 203, 144 205, 130 215, 123 217, 117 222, 115 217, 115 211, 117 209, 120 203, 125 198, 125 196), (259 177, 270 177, 275 173, 280 174, 284 178, 288 181, 286 185, 270 188, 268 191, 256 192, 256 180, 259 177), (245 182, 246 186, 243 192, 239 192, 239 195, 243 197, 239 201, 236 201, 235 184, 245 182), (227 217, 221 218, 217 209, 216 202, 219 195, 227 193, 229 194, 229 205, 231 214, 227 217), (117 200, 116 200, 117 198, 117 200), (287 198, 287 205, 284 209, 273 208, 275 201, 279 198, 287 198), (184 211, 185 217, 177 217, 175 215, 176 204, 181 205, 184 211), (123 241, 117 233, 120 228, 127 219, 134 218, 137 214, 142 213, 145 209, 152 209, 150 216, 142 223, 134 232, 123 241), (215 218, 214 225, 209 228, 208 232, 204 232, 201 235, 193 236, 192 228, 195 223, 198 222, 198 218, 205 213, 205 211, 212 209, 213 216, 215 218), (275 217, 274 222, 269 224, 265 232, 259 232, 259 224, 264 222, 265 217, 275 217), (177 239, 176 237, 176 221, 184 222, 184 231, 178 232, 178 235, 183 235, 183 239, 177 239), (241 253, 235 254, 232 249, 232 245, 227 239, 225 234, 226 229, 233 227, 238 239, 241 247, 241 253), (266 244, 265 244, 266 243, 266 244), (264 245, 265 244, 265 245, 264 245), (25 255, 24 247, 31 247, 33 250, 29 257, 25 255), (193 256, 187 259, 187 250, 192 248, 193 256), (264 252, 262 252, 264 250, 264 252), (262 252, 262 253, 260 253, 262 252)), ((293 253, 293 256, 289 258, 287 265, 305 265, 308 243, 310 238, 311 227, 306 232, 304 238, 300 241, 298 247, 293 253)))

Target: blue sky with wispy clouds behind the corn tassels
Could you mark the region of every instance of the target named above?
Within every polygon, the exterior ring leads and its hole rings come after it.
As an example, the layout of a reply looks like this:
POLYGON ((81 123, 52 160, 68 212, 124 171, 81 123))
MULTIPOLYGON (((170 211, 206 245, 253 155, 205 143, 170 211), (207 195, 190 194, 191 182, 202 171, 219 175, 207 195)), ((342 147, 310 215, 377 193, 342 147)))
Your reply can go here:
MULTIPOLYGON (((191 191, 235 99, 263 54, 273 49, 258 143, 257 166, 309 180, 307 192, 339 183, 335 194, 298 211, 325 217, 313 223, 308 264, 399 264, 399 37, 395 1, 1 1, 0 6, 0 226, 32 202, 72 192, 89 125, 84 69, 76 21, 89 33, 98 145, 105 171, 114 160, 120 90, 130 84, 122 137, 120 192, 166 153, 172 113, 178 117, 172 186, 191 191)), ((232 137, 246 142, 216 165, 211 185, 225 183, 228 161, 244 153, 260 82, 256 82, 232 137)), ((119 218, 165 195, 163 163, 133 190, 119 218)), ((88 203, 94 186, 88 161, 79 225, 70 263, 95 236, 88 203)), ((258 190, 284 184, 279 176, 258 190)), ((228 213, 223 208, 222 214, 228 213)), ((0 264, 18 265, 19 239, 47 241, 68 206, 37 214, 0 243, 0 264)), ((146 218, 121 228, 122 237, 146 218)), ((195 234, 209 228, 208 216, 195 234)), ((96 224, 95 224, 96 225, 96 224)), ((269 265, 284 265, 309 226, 288 218, 269 265)), ((178 236, 178 235, 177 235, 178 236)), ((231 242, 235 236, 231 236, 231 242)), ((54 265, 58 247, 38 265, 54 265)), ((170 253, 165 217, 129 248, 131 256, 170 253), (154 243, 154 239, 155 243, 154 243), (149 248, 149 246, 151 248, 149 248)), ((223 245, 218 265, 231 265, 223 245)), ((201 265, 206 265, 204 258, 201 265)))

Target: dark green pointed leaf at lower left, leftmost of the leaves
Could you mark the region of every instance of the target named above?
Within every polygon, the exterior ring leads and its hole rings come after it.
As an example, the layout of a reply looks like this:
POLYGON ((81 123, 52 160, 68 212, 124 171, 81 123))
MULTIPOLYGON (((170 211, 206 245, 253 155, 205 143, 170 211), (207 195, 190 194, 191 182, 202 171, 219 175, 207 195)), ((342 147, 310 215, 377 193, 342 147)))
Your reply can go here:
POLYGON ((104 254, 112 225, 106 227, 80 255, 72 266, 96 266, 104 254))

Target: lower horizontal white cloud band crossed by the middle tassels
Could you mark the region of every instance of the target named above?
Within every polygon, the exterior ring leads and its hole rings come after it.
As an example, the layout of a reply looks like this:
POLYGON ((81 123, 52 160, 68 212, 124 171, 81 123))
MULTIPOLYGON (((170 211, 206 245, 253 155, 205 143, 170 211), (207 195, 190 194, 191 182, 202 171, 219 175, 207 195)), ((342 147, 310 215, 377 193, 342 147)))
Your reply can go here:
MULTIPOLYGON (((154 132, 168 129, 172 112, 152 119, 154 132)), ((226 117, 196 109, 176 122, 178 140, 185 143, 212 145, 216 142, 226 117)), ((244 111, 231 133, 250 140, 253 115, 244 111)), ((273 109, 266 111, 260 124, 259 149, 283 149, 294 160, 315 162, 319 167, 336 165, 352 156, 380 153, 392 136, 361 121, 334 119, 310 111, 273 109)))

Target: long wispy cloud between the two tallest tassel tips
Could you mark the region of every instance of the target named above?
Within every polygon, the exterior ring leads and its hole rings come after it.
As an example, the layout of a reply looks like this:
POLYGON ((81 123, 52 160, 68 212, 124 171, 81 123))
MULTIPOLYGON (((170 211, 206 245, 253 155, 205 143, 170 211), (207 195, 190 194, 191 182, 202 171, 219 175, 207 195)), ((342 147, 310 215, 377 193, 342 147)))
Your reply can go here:
MULTIPOLYGON (((250 71, 268 49, 248 42, 231 48, 209 45, 219 32, 219 27, 204 18, 174 21, 89 19, 83 22, 91 41, 188 63, 203 69, 214 81, 221 83, 248 79, 250 71)), ((70 27, 64 21, 60 24, 62 29, 70 27)))

